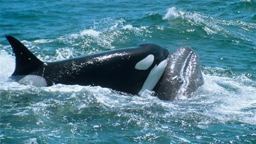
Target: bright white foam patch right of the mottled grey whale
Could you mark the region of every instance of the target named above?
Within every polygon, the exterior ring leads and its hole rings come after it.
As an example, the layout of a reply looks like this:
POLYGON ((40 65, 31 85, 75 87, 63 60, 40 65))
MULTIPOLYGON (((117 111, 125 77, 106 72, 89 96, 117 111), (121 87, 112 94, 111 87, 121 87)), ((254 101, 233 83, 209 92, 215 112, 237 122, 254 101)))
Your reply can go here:
POLYGON ((224 77, 203 75, 205 84, 185 103, 219 121, 256 124, 256 83, 245 75, 224 77))

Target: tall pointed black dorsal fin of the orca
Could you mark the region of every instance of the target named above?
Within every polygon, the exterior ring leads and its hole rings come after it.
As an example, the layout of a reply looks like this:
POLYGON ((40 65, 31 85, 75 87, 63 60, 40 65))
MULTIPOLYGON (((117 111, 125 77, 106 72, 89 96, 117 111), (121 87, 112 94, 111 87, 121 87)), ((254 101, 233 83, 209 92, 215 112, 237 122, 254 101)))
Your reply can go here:
POLYGON ((6 39, 9 41, 15 53, 15 71, 13 75, 29 75, 31 72, 39 69, 44 65, 43 61, 40 61, 23 45, 19 40, 15 39, 11 35, 6 35, 6 39))

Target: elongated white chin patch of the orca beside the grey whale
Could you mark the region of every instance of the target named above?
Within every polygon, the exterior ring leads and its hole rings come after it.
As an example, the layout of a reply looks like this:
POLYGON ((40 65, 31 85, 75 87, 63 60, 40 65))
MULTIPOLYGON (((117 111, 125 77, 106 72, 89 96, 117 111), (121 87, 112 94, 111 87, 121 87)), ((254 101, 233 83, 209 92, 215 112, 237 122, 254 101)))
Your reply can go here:
POLYGON ((139 95, 143 93, 145 90, 152 91, 155 85, 157 85, 157 82, 163 75, 163 72, 165 71, 165 67, 167 65, 168 59, 165 59, 159 63, 159 65, 155 65, 153 69, 151 69, 149 76, 147 76, 146 81, 144 82, 141 91, 139 91, 139 95))

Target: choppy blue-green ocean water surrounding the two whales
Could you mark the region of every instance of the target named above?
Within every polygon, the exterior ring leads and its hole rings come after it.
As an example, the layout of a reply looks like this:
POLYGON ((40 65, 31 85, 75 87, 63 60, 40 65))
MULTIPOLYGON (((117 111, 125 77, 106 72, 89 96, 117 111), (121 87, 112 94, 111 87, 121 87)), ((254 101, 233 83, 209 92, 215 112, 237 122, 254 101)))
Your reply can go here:
POLYGON ((256 143, 255 33, 253 0, 0 1, 0 143, 256 143), (205 84, 176 101, 20 85, 9 79, 7 34, 42 61, 145 42, 189 46, 205 84))

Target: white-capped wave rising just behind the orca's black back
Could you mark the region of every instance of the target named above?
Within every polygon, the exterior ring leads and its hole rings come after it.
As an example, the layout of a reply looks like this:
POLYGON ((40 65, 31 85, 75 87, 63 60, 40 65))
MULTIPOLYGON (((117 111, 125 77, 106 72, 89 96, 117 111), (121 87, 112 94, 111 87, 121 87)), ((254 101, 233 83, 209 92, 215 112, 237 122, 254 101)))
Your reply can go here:
MULTIPOLYGON (((95 21, 93 27, 89 29, 69 33, 57 39, 22 40, 21 42, 42 61, 58 61, 116 49, 114 45, 129 43, 132 36, 151 37, 151 30, 147 26, 134 27, 123 19, 105 18, 95 21)), ((1 49, 11 53, 10 45, 0 46, 1 49)))

